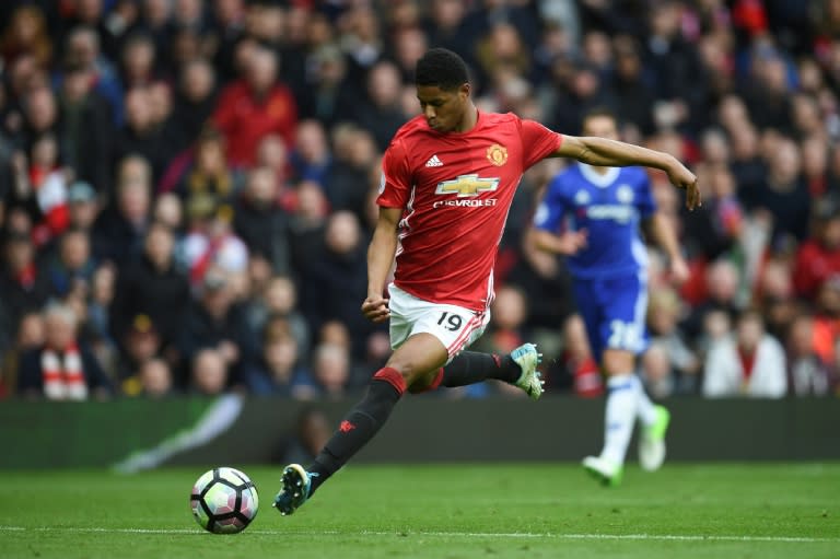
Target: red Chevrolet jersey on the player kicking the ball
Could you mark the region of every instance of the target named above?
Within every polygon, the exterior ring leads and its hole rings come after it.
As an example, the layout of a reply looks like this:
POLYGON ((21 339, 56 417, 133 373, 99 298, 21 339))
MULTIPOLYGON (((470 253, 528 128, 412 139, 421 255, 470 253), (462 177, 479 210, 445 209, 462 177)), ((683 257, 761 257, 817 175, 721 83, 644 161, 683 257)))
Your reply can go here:
POLYGON ((562 136, 511 113, 478 113, 467 132, 438 132, 421 115, 394 136, 376 203, 402 208, 395 283, 432 303, 483 311, 522 174, 562 136))

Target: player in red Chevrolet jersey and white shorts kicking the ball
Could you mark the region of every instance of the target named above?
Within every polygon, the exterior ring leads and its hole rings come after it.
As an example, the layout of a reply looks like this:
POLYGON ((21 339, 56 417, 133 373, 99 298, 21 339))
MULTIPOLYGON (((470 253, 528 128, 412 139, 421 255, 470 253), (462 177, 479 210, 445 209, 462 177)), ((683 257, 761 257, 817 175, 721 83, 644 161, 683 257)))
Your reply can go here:
POLYGON ((486 379, 542 392, 533 345, 510 356, 463 351, 483 330, 493 264, 522 174, 545 158, 594 165, 650 165, 699 202, 695 175, 676 159, 600 138, 561 136, 512 114, 479 112, 464 60, 441 48, 417 62, 422 115, 394 137, 383 160, 380 217, 368 252, 362 313, 390 321, 394 353, 307 467, 290 464, 275 506, 292 514, 365 445, 408 392, 486 379), (396 256, 394 282, 385 282, 396 256))

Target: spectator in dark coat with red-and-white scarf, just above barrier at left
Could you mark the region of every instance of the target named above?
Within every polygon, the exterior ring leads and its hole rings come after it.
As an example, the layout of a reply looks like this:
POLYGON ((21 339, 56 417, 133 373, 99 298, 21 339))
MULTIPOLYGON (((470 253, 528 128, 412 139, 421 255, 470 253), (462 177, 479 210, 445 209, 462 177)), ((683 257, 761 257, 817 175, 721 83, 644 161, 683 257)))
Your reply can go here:
POLYGON ((44 311, 44 345, 21 360, 19 394, 52 400, 107 396, 110 386, 105 373, 88 348, 78 342, 78 318, 73 311, 63 304, 51 304, 44 311))

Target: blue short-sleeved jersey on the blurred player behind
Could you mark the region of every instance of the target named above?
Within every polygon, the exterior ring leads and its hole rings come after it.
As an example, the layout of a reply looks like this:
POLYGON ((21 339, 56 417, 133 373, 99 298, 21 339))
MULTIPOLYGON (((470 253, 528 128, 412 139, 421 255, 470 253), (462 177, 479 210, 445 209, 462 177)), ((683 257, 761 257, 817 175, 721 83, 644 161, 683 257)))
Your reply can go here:
POLYGON ((558 234, 585 229, 586 247, 568 257, 569 270, 580 279, 608 278, 648 267, 639 223, 655 210, 643 168, 609 167, 599 175, 578 163, 549 183, 534 224, 558 234))

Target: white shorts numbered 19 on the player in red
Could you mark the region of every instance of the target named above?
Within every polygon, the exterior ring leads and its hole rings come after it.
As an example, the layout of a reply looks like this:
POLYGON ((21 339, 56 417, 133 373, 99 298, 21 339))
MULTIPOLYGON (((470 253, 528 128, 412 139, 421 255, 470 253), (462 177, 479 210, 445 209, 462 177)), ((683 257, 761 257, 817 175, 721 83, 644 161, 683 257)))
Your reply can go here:
POLYGON ((410 336, 431 334, 444 345, 450 360, 485 333, 490 310, 483 313, 463 306, 430 303, 388 286, 390 302, 390 348, 397 349, 410 336))

